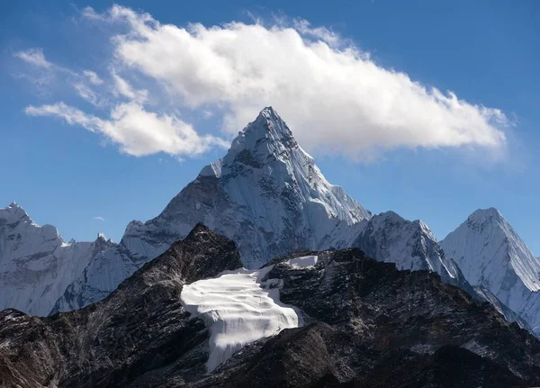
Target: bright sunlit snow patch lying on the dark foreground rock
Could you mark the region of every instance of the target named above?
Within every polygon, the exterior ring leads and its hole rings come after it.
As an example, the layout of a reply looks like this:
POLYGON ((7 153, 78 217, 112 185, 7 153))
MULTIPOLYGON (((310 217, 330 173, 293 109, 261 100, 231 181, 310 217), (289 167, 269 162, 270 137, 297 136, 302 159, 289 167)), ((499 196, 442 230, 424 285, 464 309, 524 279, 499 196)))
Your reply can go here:
POLYGON ((279 290, 271 288, 276 279, 263 282, 272 267, 225 271, 184 285, 180 299, 185 310, 204 320, 211 331, 209 372, 244 345, 300 326, 296 311, 280 302, 279 290))

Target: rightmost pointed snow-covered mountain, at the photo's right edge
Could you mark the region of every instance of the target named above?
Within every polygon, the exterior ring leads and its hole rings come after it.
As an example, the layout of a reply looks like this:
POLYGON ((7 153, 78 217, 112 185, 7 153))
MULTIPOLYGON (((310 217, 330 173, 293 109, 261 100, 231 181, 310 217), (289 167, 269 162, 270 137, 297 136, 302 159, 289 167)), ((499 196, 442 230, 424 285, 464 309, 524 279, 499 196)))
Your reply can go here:
POLYGON ((540 261, 497 209, 473 212, 440 242, 470 284, 482 286, 540 329, 540 261))

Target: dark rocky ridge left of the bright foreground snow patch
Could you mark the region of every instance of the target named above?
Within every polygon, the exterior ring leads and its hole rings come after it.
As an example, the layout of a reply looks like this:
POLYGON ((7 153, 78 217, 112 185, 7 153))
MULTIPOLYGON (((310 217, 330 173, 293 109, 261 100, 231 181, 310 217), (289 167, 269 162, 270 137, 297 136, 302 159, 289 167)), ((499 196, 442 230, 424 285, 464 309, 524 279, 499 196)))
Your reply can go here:
POLYGON ((204 374, 208 330, 184 311, 182 286, 239 266, 234 242, 197 225, 84 310, 0 312, 0 386, 127 386, 165 365, 179 385, 204 374))

